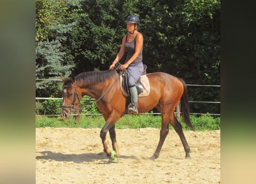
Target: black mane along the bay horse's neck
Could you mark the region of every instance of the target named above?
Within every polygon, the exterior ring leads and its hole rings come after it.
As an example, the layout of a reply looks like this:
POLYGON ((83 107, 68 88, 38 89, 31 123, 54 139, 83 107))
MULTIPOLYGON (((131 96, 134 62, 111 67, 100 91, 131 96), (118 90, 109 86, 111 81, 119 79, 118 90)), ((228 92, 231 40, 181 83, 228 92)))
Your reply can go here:
POLYGON ((75 76, 75 79, 83 83, 98 83, 105 81, 116 73, 116 70, 87 71, 78 74, 77 76, 75 76))

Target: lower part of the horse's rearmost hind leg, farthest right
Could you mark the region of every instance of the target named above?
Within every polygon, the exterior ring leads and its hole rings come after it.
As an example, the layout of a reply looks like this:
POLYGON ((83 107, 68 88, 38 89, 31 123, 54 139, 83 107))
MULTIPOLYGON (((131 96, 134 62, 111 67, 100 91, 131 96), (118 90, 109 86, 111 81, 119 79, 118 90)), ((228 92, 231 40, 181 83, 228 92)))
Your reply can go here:
POLYGON ((181 124, 177 120, 177 118, 174 116, 174 114, 173 114, 173 118, 171 118, 170 123, 171 123, 171 125, 173 125, 173 128, 174 128, 175 132, 178 133, 179 138, 181 139, 181 142, 183 144, 183 147, 184 147, 184 150, 185 150, 185 153, 186 153, 185 158, 190 158, 190 155, 189 155, 190 148, 189 148, 188 142, 186 141, 185 135, 182 131, 181 124))

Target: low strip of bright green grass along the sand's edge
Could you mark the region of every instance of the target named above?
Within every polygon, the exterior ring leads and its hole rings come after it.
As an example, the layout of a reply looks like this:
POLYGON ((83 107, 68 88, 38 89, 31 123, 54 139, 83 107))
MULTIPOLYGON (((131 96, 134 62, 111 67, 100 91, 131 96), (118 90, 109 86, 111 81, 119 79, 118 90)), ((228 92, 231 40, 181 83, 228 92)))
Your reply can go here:
MULTIPOLYGON (((192 124, 196 131, 217 130, 220 129, 220 118, 213 118, 209 115, 190 116, 192 124)), ((105 120, 103 116, 81 116, 80 122, 76 122, 74 117, 69 120, 61 120, 61 118, 49 118, 37 116, 36 128, 40 127, 67 127, 67 128, 103 128, 105 120)), ((185 123, 181 118, 181 125, 184 131, 188 131, 185 123)), ((116 128, 161 128, 161 116, 152 116, 151 114, 125 115, 115 124, 116 128)), ((169 126, 173 129, 172 126, 169 126)))

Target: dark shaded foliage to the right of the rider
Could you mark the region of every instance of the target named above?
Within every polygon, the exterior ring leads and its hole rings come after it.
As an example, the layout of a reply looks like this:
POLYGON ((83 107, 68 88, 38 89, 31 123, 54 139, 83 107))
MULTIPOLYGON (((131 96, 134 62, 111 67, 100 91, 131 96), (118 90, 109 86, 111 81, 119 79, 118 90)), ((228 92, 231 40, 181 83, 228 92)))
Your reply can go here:
MULTIPOLYGON (((188 84, 220 84, 220 1, 160 1, 144 15, 143 60, 188 84)), ((190 101, 220 101, 218 88, 190 88, 190 101), (191 89, 191 90, 190 90, 191 89)), ((192 104, 192 112, 220 113, 216 104, 192 104)))

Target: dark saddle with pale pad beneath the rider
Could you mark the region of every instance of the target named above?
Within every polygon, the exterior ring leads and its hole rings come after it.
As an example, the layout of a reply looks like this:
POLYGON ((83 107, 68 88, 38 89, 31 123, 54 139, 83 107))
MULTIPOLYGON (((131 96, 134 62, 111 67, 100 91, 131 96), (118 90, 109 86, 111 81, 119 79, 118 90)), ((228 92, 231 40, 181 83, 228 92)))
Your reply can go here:
MULTIPOLYGON (((148 94, 150 94, 150 82, 147 78, 147 66, 146 64, 143 64, 143 72, 140 76, 139 80, 136 82, 135 86, 138 92, 138 97, 146 97, 148 94)), ((121 91, 122 93, 128 97, 130 95, 129 93, 129 87, 128 87, 128 72, 127 70, 124 70, 120 74, 120 85, 121 85, 121 91)))

